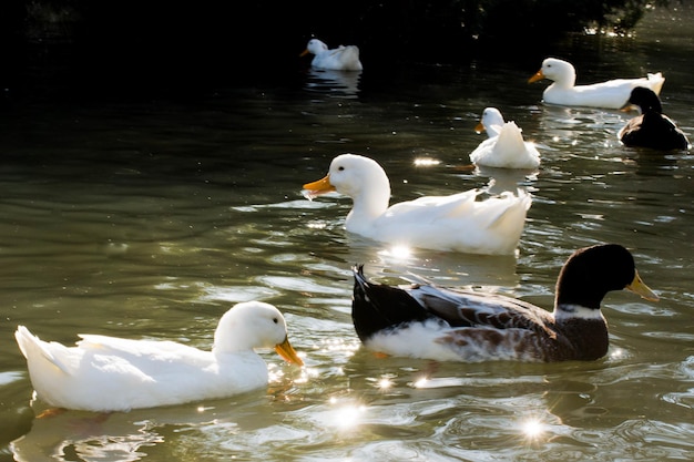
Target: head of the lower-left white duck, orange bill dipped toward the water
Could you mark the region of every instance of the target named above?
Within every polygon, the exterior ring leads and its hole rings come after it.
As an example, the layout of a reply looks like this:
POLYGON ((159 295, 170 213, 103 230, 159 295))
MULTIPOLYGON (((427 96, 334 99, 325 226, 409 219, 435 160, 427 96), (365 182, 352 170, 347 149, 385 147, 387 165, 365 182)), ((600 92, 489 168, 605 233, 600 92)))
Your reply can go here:
POLYGON ((214 332, 213 352, 218 355, 254 348, 274 348, 286 361, 303 366, 287 338, 287 324, 282 312, 263 301, 244 301, 220 319, 214 332))

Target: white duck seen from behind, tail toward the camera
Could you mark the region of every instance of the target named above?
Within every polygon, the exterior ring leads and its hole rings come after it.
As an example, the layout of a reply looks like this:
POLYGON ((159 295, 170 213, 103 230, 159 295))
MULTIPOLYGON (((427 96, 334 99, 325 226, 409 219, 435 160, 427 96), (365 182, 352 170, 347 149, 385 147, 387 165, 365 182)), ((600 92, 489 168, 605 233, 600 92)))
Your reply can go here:
POLYGON ((522 130, 516 122, 504 122, 498 109, 484 109, 474 130, 486 131, 489 135, 470 153, 474 165, 528 170, 540 166, 540 153, 534 143, 524 141, 522 130))

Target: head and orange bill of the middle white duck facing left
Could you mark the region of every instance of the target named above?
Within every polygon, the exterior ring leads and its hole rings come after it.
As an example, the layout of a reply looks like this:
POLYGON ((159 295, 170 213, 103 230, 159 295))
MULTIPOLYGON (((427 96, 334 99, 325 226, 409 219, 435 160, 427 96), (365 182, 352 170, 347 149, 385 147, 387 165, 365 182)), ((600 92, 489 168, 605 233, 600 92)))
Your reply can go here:
POLYGON ((355 202, 361 196, 382 203, 390 199, 390 182, 384 168, 372 158, 356 154, 341 154, 333 160, 328 174, 317 182, 307 183, 309 196, 337 191, 355 202))

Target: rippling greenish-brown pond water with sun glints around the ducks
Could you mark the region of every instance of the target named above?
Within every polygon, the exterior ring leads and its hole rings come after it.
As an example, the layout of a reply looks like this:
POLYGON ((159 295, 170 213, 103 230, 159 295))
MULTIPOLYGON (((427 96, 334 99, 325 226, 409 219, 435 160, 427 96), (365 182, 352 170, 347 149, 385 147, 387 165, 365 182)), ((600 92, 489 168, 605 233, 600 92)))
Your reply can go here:
MULTIPOLYGON (((573 61, 580 83, 662 71, 664 111, 692 138, 685 13, 650 18, 635 39, 575 38, 544 51, 573 61)), ((629 114, 543 105, 547 83, 525 83, 541 54, 492 58, 388 79, 307 72, 298 85, 195 101, 30 103, 0 114, 0 460, 692 460, 694 155, 621 146, 629 114), (486 106, 537 142, 537 173, 468 168, 486 106), (348 198, 300 192, 345 152, 384 165, 392 202, 492 182, 530 191, 518 256, 404 256, 346 234, 348 198), (605 298, 602 360, 465 365, 359 346, 354 263, 384 283, 409 270, 550 309, 565 258, 603 242, 632 249, 661 300, 605 298), (304 369, 263 352, 271 383, 256 392, 37 418, 45 405, 30 403, 17 325, 68 345, 90 332, 210 348, 218 317, 249 299, 285 314, 304 369)))

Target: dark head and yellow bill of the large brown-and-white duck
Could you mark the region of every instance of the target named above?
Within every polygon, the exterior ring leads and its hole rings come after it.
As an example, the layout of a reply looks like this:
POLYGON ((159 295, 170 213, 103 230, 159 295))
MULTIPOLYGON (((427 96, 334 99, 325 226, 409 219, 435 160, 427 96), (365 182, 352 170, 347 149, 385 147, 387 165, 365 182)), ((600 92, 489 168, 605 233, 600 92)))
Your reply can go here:
POLYGON ((612 290, 631 290, 646 300, 659 299, 642 280, 632 254, 618 244, 596 245, 574 251, 557 279, 555 307, 600 309, 612 290))

